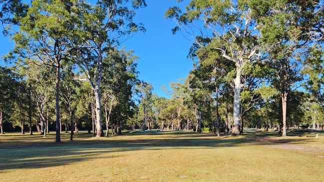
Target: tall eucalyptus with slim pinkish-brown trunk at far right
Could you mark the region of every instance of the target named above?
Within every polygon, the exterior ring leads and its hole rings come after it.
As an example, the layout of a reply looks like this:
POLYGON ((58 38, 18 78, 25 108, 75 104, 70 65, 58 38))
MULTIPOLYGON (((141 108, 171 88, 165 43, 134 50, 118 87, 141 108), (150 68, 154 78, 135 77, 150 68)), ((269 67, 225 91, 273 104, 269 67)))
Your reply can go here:
POLYGON ((262 42, 274 70, 273 85, 281 91, 283 136, 288 95, 300 87, 302 63, 310 46, 323 41, 323 0, 257 0, 253 14, 260 17, 262 42))

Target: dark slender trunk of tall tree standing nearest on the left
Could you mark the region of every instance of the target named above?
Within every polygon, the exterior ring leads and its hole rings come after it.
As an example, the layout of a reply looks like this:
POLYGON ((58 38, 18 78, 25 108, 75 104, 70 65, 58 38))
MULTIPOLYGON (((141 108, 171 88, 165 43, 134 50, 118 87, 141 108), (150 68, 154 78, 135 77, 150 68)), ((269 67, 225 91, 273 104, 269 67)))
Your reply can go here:
POLYGON ((56 133, 55 142, 61 142, 61 127, 60 127, 60 63, 56 61, 56 94, 55 94, 55 109, 56 109, 56 133))

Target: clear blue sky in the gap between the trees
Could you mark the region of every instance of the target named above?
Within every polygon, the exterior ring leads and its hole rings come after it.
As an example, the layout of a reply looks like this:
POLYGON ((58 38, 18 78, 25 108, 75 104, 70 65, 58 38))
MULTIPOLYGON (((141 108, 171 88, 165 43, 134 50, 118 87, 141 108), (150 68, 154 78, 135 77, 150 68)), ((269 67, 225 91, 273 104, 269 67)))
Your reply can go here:
MULTIPOLYGON (((155 92, 167 96, 162 86, 185 78, 192 69, 192 61, 186 59, 192 42, 182 35, 171 33, 175 23, 164 18, 168 7, 180 5, 176 0, 147 0, 148 6, 137 11, 135 20, 147 29, 127 40, 122 46, 134 50, 139 56, 139 79, 153 85, 155 92)), ((8 37, 0 33, 0 55, 5 55, 13 46, 8 37)), ((0 60, 0 65, 3 61, 0 60)))

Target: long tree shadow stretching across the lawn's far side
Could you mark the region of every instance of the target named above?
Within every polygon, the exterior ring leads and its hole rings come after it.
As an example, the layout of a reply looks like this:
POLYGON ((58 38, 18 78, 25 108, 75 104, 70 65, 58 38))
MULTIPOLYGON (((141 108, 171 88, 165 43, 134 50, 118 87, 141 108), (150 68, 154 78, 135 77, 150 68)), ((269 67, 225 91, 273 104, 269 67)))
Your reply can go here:
MULTIPOLYGON (((64 166, 80 161, 118 157, 123 151, 226 148, 246 145, 271 145, 260 142, 260 138, 274 136, 259 133, 245 133, 243 137, 225 136, 217 138, 212 134, 192 132, 125 132, 124 136, 110 139, 91 139, 91 135, 78 133, 75 141, 68 141, 68 134, 62 134, 65 142, 55 144, 52 138, 41 136, 11 136, 0 142, 0 170, 33 169, 64 166), (131 138, 129 135, 134 135, 131 138), (152 136, 156 135, 156 136, 152 136), (149 136, 149 137, 148 137, 149 136), (27 140, 26 140, 27 138, 27 140), (31 141, 28 141, 31 140, 31 141), (111 153, 110 157, 103 154, 111 153)), ((51 135, 53 137, 53 135, 51 135)), ((308 139, 281 139, 280 143, 305 143, 308 139)), ((124 156, 124 155, 123 155, 124 156)), ((85 163, 86 164, 86 163, 85 163)))

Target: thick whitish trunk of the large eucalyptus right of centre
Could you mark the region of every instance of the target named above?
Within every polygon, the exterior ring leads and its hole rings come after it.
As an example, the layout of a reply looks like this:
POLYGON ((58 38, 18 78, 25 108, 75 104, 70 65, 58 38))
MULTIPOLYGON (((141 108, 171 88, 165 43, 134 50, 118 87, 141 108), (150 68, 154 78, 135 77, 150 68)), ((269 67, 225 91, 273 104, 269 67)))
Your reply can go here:
POLYGON ((240 97, 241 97, 241 68, 236 67, 236 78, 234 80, 234 104, 233 104, 233 127, 232 135, 240 134, 240 97))

